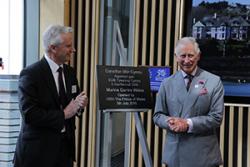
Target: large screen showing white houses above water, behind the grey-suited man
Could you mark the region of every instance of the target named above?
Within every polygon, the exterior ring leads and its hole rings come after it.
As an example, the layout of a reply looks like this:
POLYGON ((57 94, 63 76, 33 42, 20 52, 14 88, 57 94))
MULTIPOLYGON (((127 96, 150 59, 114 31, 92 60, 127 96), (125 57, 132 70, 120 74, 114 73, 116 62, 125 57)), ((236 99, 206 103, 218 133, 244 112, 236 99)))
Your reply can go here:
POLYGON ((186 14, 186 35, 192 35, 193 20, 203 22, 206 29, 204 37, 197 38, 202 53, 199 66, 221 77, 227 102, 249 104, 250 37, 243 28, 249 21, 249 0, 189 0, 187 3, 190 9, 186 14))

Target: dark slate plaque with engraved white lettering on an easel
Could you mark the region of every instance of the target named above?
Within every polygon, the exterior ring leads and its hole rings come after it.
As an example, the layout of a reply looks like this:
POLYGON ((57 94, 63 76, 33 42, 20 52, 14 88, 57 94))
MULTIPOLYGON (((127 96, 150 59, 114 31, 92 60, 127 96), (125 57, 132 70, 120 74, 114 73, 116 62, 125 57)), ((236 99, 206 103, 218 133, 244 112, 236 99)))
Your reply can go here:
POLYGON ((146 67, 98 65, 97 79, 101 110, 152 108, 146 67))

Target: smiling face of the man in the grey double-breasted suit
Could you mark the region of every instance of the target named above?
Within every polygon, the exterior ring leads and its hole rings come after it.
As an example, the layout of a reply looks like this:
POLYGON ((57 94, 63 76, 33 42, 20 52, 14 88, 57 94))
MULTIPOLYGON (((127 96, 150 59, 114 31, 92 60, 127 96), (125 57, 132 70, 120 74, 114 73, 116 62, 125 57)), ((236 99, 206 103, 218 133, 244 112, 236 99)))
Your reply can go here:
POLYGON ((191 42, 180 44, 178 53, 175 54, 178 65, 187 74, 191 74, 200 60, 200 53, 197 53, 194 44, 191 42))

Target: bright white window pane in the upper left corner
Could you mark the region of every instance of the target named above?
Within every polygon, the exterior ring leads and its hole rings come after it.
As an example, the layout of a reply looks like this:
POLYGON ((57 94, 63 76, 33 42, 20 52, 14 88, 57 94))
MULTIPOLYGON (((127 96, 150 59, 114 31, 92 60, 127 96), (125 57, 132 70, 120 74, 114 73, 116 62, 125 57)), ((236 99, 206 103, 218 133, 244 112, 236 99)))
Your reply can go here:
POLYGON ((0 74, 17 75, 23 67, 23 0, 1 0, 0 74))

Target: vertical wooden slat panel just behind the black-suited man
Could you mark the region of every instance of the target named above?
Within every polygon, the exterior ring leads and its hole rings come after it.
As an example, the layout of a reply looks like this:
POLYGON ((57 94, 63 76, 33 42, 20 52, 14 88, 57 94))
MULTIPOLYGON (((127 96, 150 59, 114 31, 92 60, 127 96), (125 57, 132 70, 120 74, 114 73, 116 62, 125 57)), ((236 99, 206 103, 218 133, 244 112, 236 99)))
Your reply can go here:
POLYGON ((93 167, 96 163, 96 64, 99 47, 99 0, 65 0, 65 24, 75 30, 76 54, 71 60, 80 88, 89 97, 89 105, 76 122, 77 157, 75 166, 93 167), (69 20, 67 20, 69 18, 69 20))

